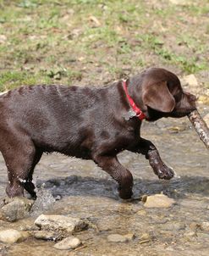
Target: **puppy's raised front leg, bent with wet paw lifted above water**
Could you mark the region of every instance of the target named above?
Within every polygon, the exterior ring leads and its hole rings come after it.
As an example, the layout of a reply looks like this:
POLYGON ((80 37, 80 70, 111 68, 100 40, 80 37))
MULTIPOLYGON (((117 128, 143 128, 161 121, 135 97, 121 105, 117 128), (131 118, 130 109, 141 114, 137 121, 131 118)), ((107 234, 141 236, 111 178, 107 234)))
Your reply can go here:
POLYGON ((130 148, 130 151, 145 155, 146 159, 150 162, 151 168, 159 179, 170 180, 173 178, 173 170, 162 162, 157 148, 150 141, 140 138, 140 141, 135 145, 135 147, 130 148))

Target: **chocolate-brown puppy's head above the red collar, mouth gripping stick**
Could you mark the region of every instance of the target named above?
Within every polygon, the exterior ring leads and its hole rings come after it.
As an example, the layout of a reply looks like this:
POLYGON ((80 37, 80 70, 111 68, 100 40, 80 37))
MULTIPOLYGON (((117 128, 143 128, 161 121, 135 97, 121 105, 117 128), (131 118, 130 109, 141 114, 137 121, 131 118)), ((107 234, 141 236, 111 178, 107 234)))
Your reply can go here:
POLYGON ((179 78, 168 70, 146 70, 142 74, 140 90, 140 104, 148 120, 179 118, 196 109, 196 97, 184 92, 179 78))

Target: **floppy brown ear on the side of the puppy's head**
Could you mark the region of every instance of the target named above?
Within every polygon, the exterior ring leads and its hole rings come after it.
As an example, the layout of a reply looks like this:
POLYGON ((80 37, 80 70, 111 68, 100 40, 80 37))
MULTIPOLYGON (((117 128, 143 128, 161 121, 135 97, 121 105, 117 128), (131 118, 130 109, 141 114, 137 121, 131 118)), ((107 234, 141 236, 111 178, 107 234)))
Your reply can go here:
POLYGON ((175 107, 174 97, 169 92, 166 81, 144 85, 142 87, 142 100, 151 109, 165 113, 172 112, 175 107))

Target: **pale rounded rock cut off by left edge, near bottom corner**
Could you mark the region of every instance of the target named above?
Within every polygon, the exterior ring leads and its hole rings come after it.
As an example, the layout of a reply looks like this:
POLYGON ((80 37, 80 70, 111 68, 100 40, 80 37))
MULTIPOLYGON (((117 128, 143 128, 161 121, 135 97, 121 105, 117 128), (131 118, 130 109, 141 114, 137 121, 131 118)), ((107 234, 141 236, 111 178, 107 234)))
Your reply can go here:
POLYGON ((16 230, 5 230, 0 231, 0 241, 5 243, 14 243, 23 241, 25 236, 16 230))

